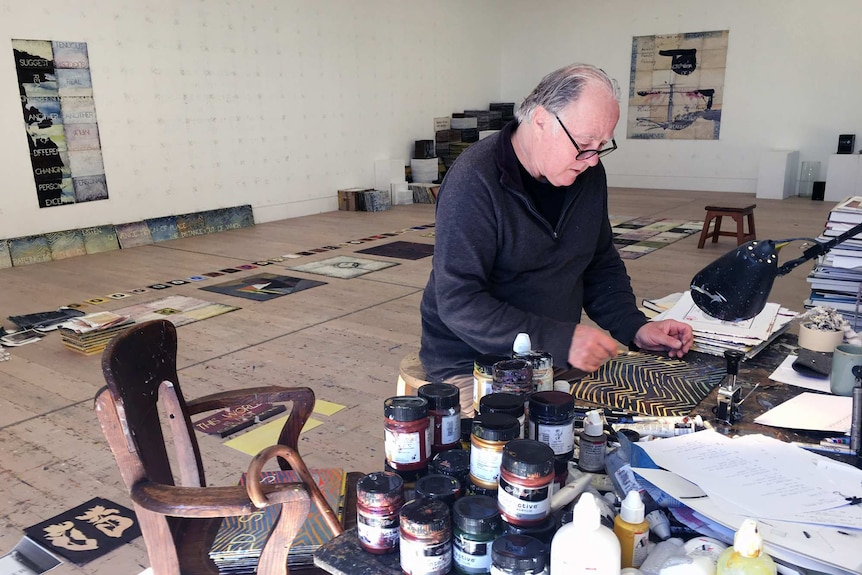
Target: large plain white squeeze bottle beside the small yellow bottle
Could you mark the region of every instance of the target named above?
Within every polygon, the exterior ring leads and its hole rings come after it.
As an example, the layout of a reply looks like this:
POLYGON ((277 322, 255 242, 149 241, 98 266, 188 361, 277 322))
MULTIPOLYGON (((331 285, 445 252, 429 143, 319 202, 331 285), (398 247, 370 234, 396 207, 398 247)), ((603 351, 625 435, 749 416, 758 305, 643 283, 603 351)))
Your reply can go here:
POLYGON ((620 542, 602 525, 590 492, 581 494, 572 522, 560 527, 551 541, 551 573, 620 575, 620 542))

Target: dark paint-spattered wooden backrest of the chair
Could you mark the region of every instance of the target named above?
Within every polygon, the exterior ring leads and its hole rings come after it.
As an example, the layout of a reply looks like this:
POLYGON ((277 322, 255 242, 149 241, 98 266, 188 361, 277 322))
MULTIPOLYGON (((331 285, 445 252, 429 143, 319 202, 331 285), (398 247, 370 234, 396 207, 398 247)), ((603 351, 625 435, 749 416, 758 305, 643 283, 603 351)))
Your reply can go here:
MULTIPOLYGON (((171 426, 175 435, 181 434, 174 441, 188 447, 181 455, 184 453, 191 459, 180 461, 180 465, 197 470, 192 485, 206 485, 200 449, 177 377, 174 325, 167 320, 153 320, 134 325, 116 336, 102 354, 102 372, 123 428, 126 449, 140 461, 143 474, 134 477, 129 471, 124 472, 127 487, 144 477, 155 483, 175 484, 159 416, 159 388, 163 382, 172 385, 178 408, 178 413, 172 415, 181 417, 183 422, 171 426)), ((122 446, 115 443, 116 440, 111 448, 116 455, 122 446)))

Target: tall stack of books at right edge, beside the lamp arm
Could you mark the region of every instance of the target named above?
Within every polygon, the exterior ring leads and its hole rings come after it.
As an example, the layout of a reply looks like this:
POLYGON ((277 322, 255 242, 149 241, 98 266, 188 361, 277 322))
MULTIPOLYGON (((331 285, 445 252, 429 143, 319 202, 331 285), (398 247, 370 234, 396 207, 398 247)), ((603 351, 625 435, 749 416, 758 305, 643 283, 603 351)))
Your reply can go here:
MULTIPOLYGON (((817 241, 823 243, 862 223, 862 196, 849 196, 829 212, 829 220, 817 241)), ((808 274, 811 295, 805 307, 826 306, 838 310, 854 330, 862 327, 862 234, 832 248, 819 258, 808 274)))

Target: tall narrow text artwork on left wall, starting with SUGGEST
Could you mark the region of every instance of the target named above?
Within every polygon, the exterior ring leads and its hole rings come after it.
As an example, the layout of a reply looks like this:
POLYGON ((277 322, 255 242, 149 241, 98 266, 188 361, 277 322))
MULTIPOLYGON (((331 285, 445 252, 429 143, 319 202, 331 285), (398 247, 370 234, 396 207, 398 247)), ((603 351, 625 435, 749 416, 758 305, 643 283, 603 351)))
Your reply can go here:
POLYGON ((12 40, 39 207, 105 200, 86 42, 12 40))

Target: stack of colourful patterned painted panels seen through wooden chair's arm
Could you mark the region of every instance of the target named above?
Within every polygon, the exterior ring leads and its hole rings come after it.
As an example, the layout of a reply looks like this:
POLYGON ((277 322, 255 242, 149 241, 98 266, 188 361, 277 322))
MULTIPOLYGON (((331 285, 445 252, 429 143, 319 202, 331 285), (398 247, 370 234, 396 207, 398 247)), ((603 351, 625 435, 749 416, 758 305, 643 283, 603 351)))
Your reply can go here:
MULTIPOLYGON (((343 469, 312 469, 311 475, 326 498, 330 507, 342 516, 346 493, 347 475, 343 469)), ((245 485, 246 474, 240 480, 245 485)), ((261 474, 262 483, 297 483, 299 477, 294 471, 265 471, 261 474)), ((265 507, 248 517, 226 517, 222 520, 218 534, 213 541, 209 556, 218 567, 219 573, 231 575, 252 574, 257 570, 257 562, 266 540, 281 512, 277 505, 265 507)), ((291 569, 314 564, 314 552, 332 539, 332 532, 323 520, 323 515, 312 503, 308 517, 290 546, 287 565, 291 569)))

